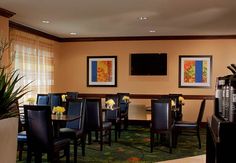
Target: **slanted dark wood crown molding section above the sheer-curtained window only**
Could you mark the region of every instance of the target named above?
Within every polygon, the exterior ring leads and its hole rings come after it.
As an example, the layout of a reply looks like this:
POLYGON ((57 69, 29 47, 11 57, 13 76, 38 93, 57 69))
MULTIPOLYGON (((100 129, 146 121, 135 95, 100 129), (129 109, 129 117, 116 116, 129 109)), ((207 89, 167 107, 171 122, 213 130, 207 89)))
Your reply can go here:
POLYGON ((60 42, 60 40, 61 40, 60 37, 50 35, 50 34, 47 34, 45 32, 41 32, 39 30, 21 25, 19 23, 15 23, 13 21, 9 21, 9 27, 18 29, 20 31, 28 32, 28 33, 31 33, 31 34, 34 34, 34 35, 37 35, 37 36, 41 36, 41 37, 44 37, 44 38, 47 38, 47 39, 50 39, 50 40, 54 40, 54 41, 57 41, 57 42, 60 42))

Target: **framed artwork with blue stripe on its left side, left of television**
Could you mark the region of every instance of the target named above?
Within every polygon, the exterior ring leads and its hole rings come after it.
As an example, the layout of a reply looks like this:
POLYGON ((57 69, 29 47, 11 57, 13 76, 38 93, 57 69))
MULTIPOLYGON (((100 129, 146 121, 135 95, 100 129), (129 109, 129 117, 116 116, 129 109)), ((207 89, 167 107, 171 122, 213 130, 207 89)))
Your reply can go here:
POLYGON ((117 86, 117 56, 87 57, 87 86, 117 86))

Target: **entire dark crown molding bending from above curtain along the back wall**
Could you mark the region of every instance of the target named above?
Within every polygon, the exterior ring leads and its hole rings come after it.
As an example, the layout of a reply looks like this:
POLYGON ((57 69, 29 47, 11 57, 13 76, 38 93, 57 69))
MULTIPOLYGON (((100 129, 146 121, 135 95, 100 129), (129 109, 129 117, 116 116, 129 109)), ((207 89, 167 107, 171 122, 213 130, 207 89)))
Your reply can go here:
POLYGON ((9 21, 11 28, 32 33, 58 42, 95 42, 95 41, 147 41, 147 40, 218 40, 236 39, 236 35, 182 35, 182 36, 130 36, 130 37, 76 37, 61 38, 25 25, 9 21))

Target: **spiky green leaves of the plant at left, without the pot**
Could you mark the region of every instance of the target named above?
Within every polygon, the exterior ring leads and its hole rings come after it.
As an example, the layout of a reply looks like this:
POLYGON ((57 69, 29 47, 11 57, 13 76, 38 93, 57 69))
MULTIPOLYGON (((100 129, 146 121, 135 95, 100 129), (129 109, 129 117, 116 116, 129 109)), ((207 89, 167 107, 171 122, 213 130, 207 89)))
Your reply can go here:
POLYGON ((15 104, 24 96, 27 87, 20 86, 16 88, 17 83, 23 78, 19 75, 17 70, 10 70, 10 64, 4 65, 3 56, 9 49, 11 42, 0 37, 0 119, 15 117, 18 115, 18 110, 15 104))

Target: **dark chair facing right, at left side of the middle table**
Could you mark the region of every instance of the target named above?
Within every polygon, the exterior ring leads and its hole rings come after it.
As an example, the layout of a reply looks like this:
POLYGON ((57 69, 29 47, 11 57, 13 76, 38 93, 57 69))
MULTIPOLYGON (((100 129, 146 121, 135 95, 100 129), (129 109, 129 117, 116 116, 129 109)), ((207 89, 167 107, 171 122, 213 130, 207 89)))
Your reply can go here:
POLYGON ((88 142, 91 143, 91 132, 98 132, 100 135, 100 150, 103 150, 103 137, 109 136, 108 143, 111 146, 111 122, 103 122, 102 106, 100 98, 86 99, 86 132, 88 142))

